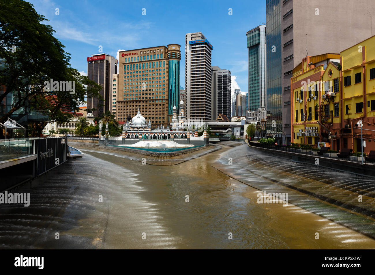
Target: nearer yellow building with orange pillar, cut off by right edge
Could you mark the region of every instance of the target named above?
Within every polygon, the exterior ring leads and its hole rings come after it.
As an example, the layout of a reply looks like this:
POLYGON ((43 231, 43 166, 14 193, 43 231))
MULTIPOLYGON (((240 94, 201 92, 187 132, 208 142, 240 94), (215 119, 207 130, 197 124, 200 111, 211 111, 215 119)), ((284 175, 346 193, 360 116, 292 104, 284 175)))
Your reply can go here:
POLYGON ((342 147, 361 152, 363 122, 364 152, 375 150, 375 36, 341 52, 342 97, 341 131, 342 147))

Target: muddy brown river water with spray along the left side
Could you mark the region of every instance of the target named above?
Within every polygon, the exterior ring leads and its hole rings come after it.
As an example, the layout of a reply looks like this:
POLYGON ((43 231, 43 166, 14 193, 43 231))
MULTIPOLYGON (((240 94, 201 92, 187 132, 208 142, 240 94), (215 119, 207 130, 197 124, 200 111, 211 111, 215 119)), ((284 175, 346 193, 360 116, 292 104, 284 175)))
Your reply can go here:
POLYGON ((258 204, 258 189, 211 166, 244 158, 245 146, 172 166, 84 151, 17 190, 31 193, 29 207, 1 205, 0 248, 375 248, 374 239, 303 208, 258 204))

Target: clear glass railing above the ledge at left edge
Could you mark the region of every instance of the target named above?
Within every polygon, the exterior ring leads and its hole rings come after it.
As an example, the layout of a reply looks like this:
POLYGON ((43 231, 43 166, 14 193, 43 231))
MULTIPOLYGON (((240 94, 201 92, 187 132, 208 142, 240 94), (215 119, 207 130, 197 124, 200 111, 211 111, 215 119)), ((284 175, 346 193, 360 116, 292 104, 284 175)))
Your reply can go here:
POLYGON ((30 155, 32 147, 28 138, 0 140, 0 161, 30 155))

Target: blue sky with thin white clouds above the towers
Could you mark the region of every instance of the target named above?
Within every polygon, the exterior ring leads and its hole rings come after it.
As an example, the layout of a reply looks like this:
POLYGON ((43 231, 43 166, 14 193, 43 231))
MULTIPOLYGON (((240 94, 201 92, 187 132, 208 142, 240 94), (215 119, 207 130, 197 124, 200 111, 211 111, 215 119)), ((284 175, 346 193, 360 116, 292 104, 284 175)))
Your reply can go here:
POLYGON ((120 1, 36 0, 37 13, 49 19, 71 65, 87 73, 86 58, 103 52, 177 43, 181 45, 181 85, 184 85, 185 34, 201 31, 213 45, 212 65, 229 69, 232 90, 248 91, 246 32, 266 22, 265 1, 120 1), (59 15, 55 15, 55 9, 59 15), (142 15, 145 8, 146 15, 142 15), (229 15, 232 9, 233 15, 229 15), (238 86, 237 86, 238 85, 238 86))

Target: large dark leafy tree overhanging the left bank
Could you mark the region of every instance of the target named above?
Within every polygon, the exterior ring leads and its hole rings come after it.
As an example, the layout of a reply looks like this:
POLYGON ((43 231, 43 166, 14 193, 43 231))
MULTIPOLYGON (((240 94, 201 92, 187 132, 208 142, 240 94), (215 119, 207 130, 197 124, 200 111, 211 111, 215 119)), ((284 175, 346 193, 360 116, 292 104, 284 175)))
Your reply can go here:
MULTIPOLYGON (((2 123, 20 109, 24 109, 24 113, 48 111, 49 122, 68 122, 72 115, 64 109, 78 111, 78 106, 86 102, 86 94, 102 100, 99 94, 102 86, 71 68, 65 46, 53 36, 52 27, 42 24, 43 21, 48 19, 37 14, 34 6, 26 1, 1 1, 0 59, 5 62, 0 65, 0 86, 5 90, 0 94, 0 102, 13 95, 12 106, 0 113, 2 123), (69 82, 71 86, 74 83, 74 91, 66 91, 65 85, 45 90, 45 83, 51 80, 69 82)), ((47 123, 46 119, 32 123, 31 136, 40 135, 47 123)))

